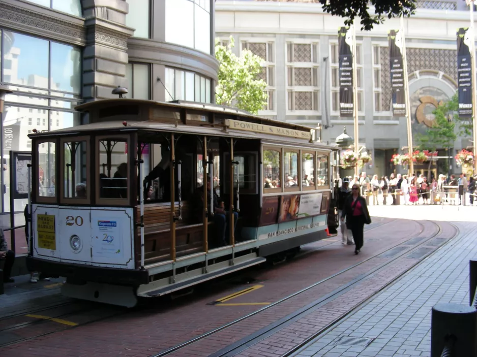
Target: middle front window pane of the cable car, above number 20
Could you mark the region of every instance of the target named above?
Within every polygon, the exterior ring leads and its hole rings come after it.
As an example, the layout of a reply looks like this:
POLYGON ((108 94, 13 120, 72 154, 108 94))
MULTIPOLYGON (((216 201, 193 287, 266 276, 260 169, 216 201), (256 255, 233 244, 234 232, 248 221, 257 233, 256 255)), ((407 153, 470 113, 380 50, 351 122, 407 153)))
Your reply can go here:
POLYGON ((86 173, 86 155, 89 145, 86 140, 78 139, 62 141, 62 146, 62 198, 86 200, 91 186, 87 182, 86 173))

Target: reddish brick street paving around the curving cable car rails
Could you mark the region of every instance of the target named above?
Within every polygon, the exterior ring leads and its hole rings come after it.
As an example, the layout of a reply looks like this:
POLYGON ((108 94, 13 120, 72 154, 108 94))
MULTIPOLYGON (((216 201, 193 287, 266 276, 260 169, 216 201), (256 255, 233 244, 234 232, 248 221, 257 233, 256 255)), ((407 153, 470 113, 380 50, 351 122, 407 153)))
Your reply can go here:
MULTIPOLYGON (((387 210, 394 208, 396 207, 386 207, 383 210, 376 207, 376 209, 385 211, 386 214, 389 213, 387 210)), ((376 213, 372 214, 376 215, 376 213)), ((434 216, 437 217, 436 214, 434 216)), ((445 217, 445 215, 442 215, 442 217, 445 217)), ((412 219, 411 217, 407 218, 412 219)), ((373 224, 367 228, 365 247, 360 255, 353 254, 353 247, 343 247, 340 244, 340 237, 332 237, 328 240, 304 246, 302 253, 289 262, 272 268, 254 269, 248 272, 247 276, 255 279, 249 284, 215 284, 212 285, 212 288, 207 288, 206 292, 201 291, 200 294, 194 294, 185 299, 173 302, 162 300, 159 303, 160 306, 125 310, 123 313, 102 321, 9 345, 0 348, 0 354, 2 357, 35 355, 49 355, 52 357, 66 355, 78 357, 86 355, 88 357, 131 355, 146 357, 263 308, 263 305, 254 304, 274 303, 343 269, 357 265, 277 307, 271 307, 263 313, 234 324, 227 330, 222 330, 199 343, 170 354, 184 357, 211 355, 229 345, 239 343, 241 339, 247 339, 250 334, 270 326, 271 323, 280 318, 285 318, 299 309, 306 308, 317 299, 325 299, 326 296, 334 294, 334 291, 339 290, 346 284, 351 284, 348 289, 343 290, 343 293, 340 293, 331 301, 324 300, 323 303, 308 310, 306 315, 290 321, 289 324, 280 328, 274 334, 268 337, 263 336, 258 341, 254 341, 250 349, 239 351, 238 354, 242 356, 279 356, 282 352, 312 336, 319 329, 325 328, 327 323, 334 322, 341 315, 359 306, 386 284, 393 283, 396 278, 421 259, 419 257, 408 258, 406 253, 402 258, 394 261, 394 256, 399 250, 392 254, 381 253, 389 251, 392 247, 399 249, 405 247, 412 250, 415 244, 420 244, 426 237, 437 234, 436 237, 443 240, 437 244, 434 244, 434 240, 429 241, 426 249, 429 249, 430 246, 430 252, 454 235, 453 226, 444 223, 441 223, 441 225, 442 230, 438 232, 437 225, 432 222, 396 220, 395 218, 375 216, 373 217, 373 224), (390 233, 392 234, 390 235, 390 233), (353 281, 360 279, 361 276, 368 274, 373 269, 378 269, 383 263, 390 263, 390 265, 386 269, 372 274, 363 282, 353 283, 353 281), (250 294, 234 298, 230 301, 234 303, 230 304, 231 306, 210 305, 211 302, 221 297, 240 291, 244 287, 255 285, 261 285, 261 287, 250 294)), ((454 246, 454 243, 451 242, 450 245, 454 246)), ((438 253, 441 251, 439 250, 438 253)), ((74 314, 68 316, 68 319, 80 325, 84 321, 80 316, 74 314)), ((372 320, 366 323, 371 322, 372 320)), ((54 322, 48 321, 45 323, 54 322)), ((49 330, 54 331, 54 328, 49 330)), ((355 330, 353 330, 353 333, 361 332, 359 329, 355 330)), ((22 329, 18 330, 18 333, 22 334, 21 331, 22 329)), ((23 333, 25 337, 30 336, 25 332, 23 333)), ((313 351, 313 354, 315 352, 317 351, 313 351)), ((354 353, 349 350, 343 352, 354 353)), ((311 353, 311 351, 306 350, 304 353, 311 353)))

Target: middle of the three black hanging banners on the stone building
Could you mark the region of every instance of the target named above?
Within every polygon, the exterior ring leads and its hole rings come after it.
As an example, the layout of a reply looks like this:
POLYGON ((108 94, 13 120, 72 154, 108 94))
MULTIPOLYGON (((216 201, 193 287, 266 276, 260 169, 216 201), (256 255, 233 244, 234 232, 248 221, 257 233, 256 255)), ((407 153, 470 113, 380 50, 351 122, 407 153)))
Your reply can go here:
POLYGON ((406 100, 404 90, 404 61, 403 41, 400 30, 390 30, 387 34, 389 42, 389 66, 391 70, 391 91, 393 103, 393 115, 406 115, 406 100))

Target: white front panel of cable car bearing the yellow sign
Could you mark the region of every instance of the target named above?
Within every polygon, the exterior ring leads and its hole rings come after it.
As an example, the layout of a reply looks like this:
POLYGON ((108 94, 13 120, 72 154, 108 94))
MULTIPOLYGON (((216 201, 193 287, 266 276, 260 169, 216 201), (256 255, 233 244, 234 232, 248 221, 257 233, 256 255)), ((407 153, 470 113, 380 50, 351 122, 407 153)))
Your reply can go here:
POLYGON ((59 261, 61 245, 59 244, 58 206, 32 205, 32 212, 33 256, 59 261), (52 220, 54 220, 54 224, 52 220))

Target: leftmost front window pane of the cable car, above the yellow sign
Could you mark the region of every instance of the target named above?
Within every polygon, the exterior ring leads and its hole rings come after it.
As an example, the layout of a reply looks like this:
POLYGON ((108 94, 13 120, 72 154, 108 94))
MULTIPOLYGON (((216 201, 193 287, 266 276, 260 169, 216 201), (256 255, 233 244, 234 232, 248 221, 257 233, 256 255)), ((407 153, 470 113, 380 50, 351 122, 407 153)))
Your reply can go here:
POLYGON ((56 145, 52 142, 42 142, 37 145, 38 153, 38 196, 56 196, 55 156, 56 145))

